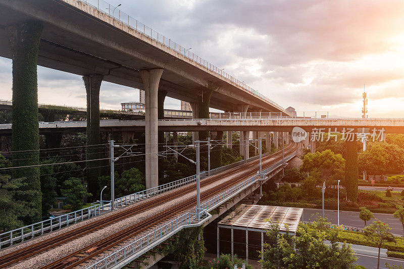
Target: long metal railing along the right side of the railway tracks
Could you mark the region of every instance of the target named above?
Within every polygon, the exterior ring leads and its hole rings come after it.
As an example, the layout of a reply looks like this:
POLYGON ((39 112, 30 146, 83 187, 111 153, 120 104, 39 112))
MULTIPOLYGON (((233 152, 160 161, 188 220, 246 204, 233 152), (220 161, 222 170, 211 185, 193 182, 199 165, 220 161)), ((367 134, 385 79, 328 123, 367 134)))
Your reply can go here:
MULTIPOLYGON (((287 159, 294 157, 295 153, 293 152, 291 155, 287 156, 287 159)), ((278 166, 282 165, 282 160, 267 168, 265 171, 267 173, 276 169, 278 166)), ((192 212, 188 212, 183 214, 181 217, 169 222, 168 224, 154 230, 153 232, 135 240, 134 242, 126 245, 125 247, 119 249, 118 251, 112 253, 111 255, 103 258, 102 260, 97 261, 96 263, 88 266, 86 269, 100 269, 100 268, 117 268, 123 267, 126 262, 125 260, 130 259, 133 260, 143 253, 147 252, 154 246, 164 242, 172 235, 176 234, 183 228, 190 226, 193 222, 192 226, 199 226, 204 221, 207 220, 207 217, 210 216, 208 213, 209 210, 219 206, 223 202, 227 201, 234 195, 238 194, 245 188, 249 187, 251 184, 257 182, 259 180, 259 175, 255 175, 250 177, 249 179, 237 184, 231 189, 217 195, 216 197, 208 200, 207 202, 201 204, 201 210, 199 213, 196 212, 196 208, 193 209, 192 212)), ((128 261, 127 261, 128 262, 128 261)))

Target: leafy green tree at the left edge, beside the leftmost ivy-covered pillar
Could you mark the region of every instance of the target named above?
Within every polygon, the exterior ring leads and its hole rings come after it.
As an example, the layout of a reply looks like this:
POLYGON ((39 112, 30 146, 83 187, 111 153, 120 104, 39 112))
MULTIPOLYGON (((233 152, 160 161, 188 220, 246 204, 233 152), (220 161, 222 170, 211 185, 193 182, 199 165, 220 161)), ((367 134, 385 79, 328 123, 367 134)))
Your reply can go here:
POLYGON ((8 175, 0 175, 0 230, 13 230, 23 226, 20 217, 28 212, 25 203, 14 200, 18 189, 26 183, 22 179, 11 179, 8 175))

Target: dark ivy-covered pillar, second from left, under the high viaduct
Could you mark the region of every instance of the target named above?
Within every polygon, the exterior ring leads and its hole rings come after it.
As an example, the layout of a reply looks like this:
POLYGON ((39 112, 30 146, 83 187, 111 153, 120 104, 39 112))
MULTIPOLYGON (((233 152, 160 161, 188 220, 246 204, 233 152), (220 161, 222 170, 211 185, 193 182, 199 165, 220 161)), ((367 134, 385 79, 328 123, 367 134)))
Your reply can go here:
POLYGON ((99 131, 99 89, 103 78, 103 75, 83 76, 87 95, 87 190, 93 195, 98 192, 98 178, 101 176, 101 161, 99 159, 102 158, 102 154, 99 147, 94 145, 101 143, 101 134, 99 131))

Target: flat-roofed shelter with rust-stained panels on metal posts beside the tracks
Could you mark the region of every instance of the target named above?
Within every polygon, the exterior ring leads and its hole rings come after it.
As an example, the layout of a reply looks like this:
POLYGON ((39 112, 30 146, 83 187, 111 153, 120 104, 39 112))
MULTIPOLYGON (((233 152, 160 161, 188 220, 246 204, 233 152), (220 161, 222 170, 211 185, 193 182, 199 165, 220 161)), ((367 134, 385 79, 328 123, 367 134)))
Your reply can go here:
POLYGON ((218 223, 217 228, 217 254, 219 257, 219 228, 231 229, 231 258, 233 260, 233 230, 245 231, 245 252, 248 263, 248 232, 261 233, 261 251, 264 251, 264 233, 269 229, 271 219, 280 226, 280 231, 285 233, 286 226, 289 233, 295 233, 297 225, 303 214, 303 208, 271 206, 271 205, 246 205, 242 204, 235 211, 218 223))

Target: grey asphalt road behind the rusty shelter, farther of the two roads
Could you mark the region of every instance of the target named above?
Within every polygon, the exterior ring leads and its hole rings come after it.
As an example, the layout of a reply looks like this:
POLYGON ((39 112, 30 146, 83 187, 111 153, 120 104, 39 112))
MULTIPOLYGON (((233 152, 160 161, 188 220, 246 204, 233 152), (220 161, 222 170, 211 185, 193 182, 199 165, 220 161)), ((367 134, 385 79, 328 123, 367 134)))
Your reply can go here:
MULTIPOLYGON (((313 221, 315 219, 316 213, 321 216, 322 209, 314 209, 314 208, 304 208, 303 210, 303 221, 313 221)), ((338 224, 338 213, 337 210, 324 210, 325 217, 332 224, 338 224)), ((384 213, 373 213, 376 219, 381 220, 382 222, 387 223, 391 232, 396 235, 404 235, 402 231, 402 225, 393 217, 393 214, 384 214, 384 213)), ((369 223, 372 223, 374 219, 370 220, 369 223)), ((364 228, 365 223, 359 218, 359 212, 355 211, 339 211, 339 224, 343 224, 346 226, 364 228)), ((403 263, 404 264, 404 263, 403 263)))

